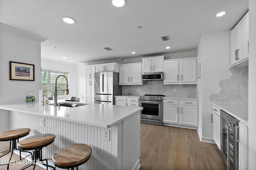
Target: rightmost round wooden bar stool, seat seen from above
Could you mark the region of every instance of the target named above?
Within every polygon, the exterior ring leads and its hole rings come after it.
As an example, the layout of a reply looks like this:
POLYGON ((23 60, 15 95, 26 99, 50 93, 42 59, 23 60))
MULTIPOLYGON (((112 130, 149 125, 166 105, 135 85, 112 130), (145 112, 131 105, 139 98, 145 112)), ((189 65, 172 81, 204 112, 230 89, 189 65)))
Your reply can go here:
POLYGON ((78 166, 87 162, 92 154, 92 148, 89 145, 76 143, 58 149, 52 155, 52 161, 58 168, 78 170, 78 166))

